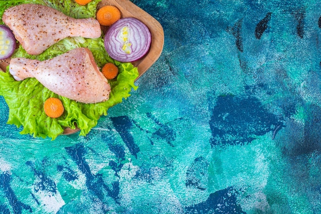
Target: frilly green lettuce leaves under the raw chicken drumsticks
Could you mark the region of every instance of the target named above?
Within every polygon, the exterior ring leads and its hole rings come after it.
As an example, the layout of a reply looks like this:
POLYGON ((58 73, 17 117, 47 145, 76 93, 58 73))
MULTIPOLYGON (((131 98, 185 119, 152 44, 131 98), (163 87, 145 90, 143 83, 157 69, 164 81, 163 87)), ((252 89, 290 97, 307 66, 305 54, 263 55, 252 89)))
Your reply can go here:
MULTIPOLYGON (((95 6, 88 5, 86 7, 74 6, 73 0, 9 0, 7 2, 11 2, 9 5, 15 3, 21 4, 20 2, 48 4, 50 7, 58 8, 58 10, 70 10, 71 14, 76 14, 75 17, 77 17, 78 12, 81 11, 79 8, 86 8, 84 10, 87 11, 87 15, 92 17, 94 13, 90 14, 88 11, 92 12, 95 10, 96 4, 99 1, 93 0, 91 3, 95 6), (65 7, 64 4, 67 3, 71 5, 65 7)), ((0 1, 0 7, 1 3, 2 1, 0 1)), ((82 13, 82 15, 84 15, 84 13, 82 13)), ((0 95, 4 96, 9 107, 8 124, 14 124, 17 127, 23 126, 23 130, 20 132, 21 134, 31 134, 33 137, 42 138, 49 137, 52 140, 59 134, 62 134, 67 127, 72 129, 78 127, 81 129, 79 135, 86 135, 97 125, 97 121, 102 115, 107 115, 108 108, 123 102, 124 99, 130 96, 132 89, 137 89, 137 86, 134 84, 134 81, 139 75, 137 68, 131 63, 121 63, 111 59, 105 50, 103 36, 95 39, 68 37, 52 45, 39 55, 29 55, 22 46, 19 46, 12 57, 25 57, 44 61, 78 47, 90 49, 98 67, 102 67, 107 62, 112 62, 118 67, 119 73, 116 79, 109 81, 111 86, 109 100, 96 104, 78 103, 53 93, 35 78, 15 81, 7 67, 6 72, 0 72, 0 95), (57 119, 49 118, 43 109, 43 103, 50 97, 60 99, 65 107, 64 114, 57 119)))

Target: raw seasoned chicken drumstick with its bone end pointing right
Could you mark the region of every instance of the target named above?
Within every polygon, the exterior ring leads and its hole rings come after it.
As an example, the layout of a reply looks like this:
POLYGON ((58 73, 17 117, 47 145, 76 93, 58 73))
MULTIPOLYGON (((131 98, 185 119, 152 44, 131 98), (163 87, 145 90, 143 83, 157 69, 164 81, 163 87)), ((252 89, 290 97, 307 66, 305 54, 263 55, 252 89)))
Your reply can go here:
POLYGON ((98 38, 102 33, 94 18, 72 18, 44 5, 22 4, 11 7, 4 12, 2 20, 31 55, 40 54, 69 36, 98 38))

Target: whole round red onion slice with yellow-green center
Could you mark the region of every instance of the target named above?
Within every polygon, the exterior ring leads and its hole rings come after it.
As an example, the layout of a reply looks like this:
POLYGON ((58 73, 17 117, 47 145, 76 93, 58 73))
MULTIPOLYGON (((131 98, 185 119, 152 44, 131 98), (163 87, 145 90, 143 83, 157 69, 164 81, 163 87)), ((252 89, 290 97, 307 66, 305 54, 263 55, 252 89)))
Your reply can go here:
POLYGON ((107 31, 104 43, 112 59, 133 62, 141 59, 152 41, 148 27, 133 17, 121 18, 107 31))

